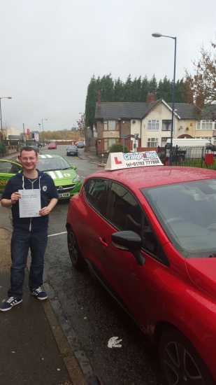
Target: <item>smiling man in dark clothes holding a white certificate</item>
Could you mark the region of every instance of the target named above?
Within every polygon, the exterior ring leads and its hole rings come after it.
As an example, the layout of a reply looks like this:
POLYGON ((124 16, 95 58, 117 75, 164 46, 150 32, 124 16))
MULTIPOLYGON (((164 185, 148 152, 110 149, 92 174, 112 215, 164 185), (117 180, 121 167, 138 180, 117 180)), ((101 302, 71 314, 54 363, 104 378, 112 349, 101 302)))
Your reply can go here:
POLYGON ((23 171, 9 179, 1 195, 1 206, 12 207, 13 216, 10 289, 8 290, 8 300, 0 307, 1 311, 8 311, 15 306, 15 304, 22 302, 24 269, 27 265, 29 248, 31 250, 31 267, 29 272, 30 292, 36 296, 38 300, 46 300, 48 298, 48 295, 41 289, 41 285, 43 284, 45 248, 48 243, 48 214, 58 202, 57 188, 51 176, 36 169, 38 163, 36 149, 30 146, 22 148, 20 152, 20 163, 22 164, 23 171), (22 190, 31 189, 36 189, 36 194, 32 196, 39 197, 36 204, 41 205, 41 209, 35 216, 29 217, 28 212, 34 208, 31 207, 29 200, 24 201, 21 193, 22 190), (20 193, 19 190, 21 190, 20 193), (22 203, 19 202, 20 200, 23 200, 23 204, 25 202, 24 206, 22 205, 22 211, 20 210, 20 204, 22 203), (50 202, 48 200, 50 200, 50 202), (25 215, 23 215, 23 207, 27 209, 25 215))

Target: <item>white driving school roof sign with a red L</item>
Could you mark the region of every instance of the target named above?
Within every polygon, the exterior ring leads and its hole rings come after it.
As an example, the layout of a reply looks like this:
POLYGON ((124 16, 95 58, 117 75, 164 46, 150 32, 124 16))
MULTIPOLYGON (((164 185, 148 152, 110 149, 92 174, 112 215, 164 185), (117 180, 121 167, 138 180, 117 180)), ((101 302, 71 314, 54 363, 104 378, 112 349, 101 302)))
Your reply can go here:
POLYGON ((131 169, 133 167, 163 166, 156 151, 143 153, 110 153, 106 170, 131 169))

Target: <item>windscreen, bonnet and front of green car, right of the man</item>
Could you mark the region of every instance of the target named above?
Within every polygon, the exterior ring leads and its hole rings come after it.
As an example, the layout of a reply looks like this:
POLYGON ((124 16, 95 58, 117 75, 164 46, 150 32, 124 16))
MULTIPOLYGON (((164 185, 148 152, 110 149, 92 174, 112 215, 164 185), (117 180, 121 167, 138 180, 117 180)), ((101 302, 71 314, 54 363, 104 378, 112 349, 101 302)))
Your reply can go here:
POLYGON ((38 158, 36 168, 52 176, 59 199, 70 198, 79 193, 82 182, 75 172, 76 166, 71 166, 59 155, 38 155, 38 158))

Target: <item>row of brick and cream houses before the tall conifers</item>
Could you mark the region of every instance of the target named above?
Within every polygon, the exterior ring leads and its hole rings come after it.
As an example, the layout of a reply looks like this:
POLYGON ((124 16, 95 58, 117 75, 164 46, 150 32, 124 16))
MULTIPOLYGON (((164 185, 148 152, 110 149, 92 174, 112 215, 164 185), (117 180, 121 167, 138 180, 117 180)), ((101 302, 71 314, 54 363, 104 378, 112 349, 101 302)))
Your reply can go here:
MULTIPOLYGON (((208 106, 198 113, 196 106, 175 103, 173 138, 201 138, 214 143, 216 125, 214 109, 208 106)), ((147 95, 147 102, 101 102, 99 93, 95 109, 97 148, 99 153, 108 151, 116 143, 123 142, 130 151, 134 148, 134 134, 138 134, 137 146, 164 147, 171 137, 172 104, 163 99, 154 100, 147 95)))

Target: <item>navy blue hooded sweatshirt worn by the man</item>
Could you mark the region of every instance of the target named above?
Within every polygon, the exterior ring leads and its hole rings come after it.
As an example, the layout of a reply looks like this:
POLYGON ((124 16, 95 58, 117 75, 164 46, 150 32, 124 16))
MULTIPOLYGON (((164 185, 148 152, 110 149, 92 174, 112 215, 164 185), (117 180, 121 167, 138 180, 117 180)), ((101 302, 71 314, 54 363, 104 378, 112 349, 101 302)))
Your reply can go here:
MULTIPOLYGON (((1 199, 10 200, 11 195, 18 190, 30 190, 38 188, 41 190, 41 209, 48 206, 48 200, 58 199, 57 188, 51 176, 37 170, 36 179, 28 179, 23 175, 23 171, 12 176, 6 188, 3 190, 1 199)), ((49 215, 37 216, 33 218, 20 218, 19 200, 12 206, 13 227, 23 228, 29 232, 45 230, 48 228, 49 215)))

